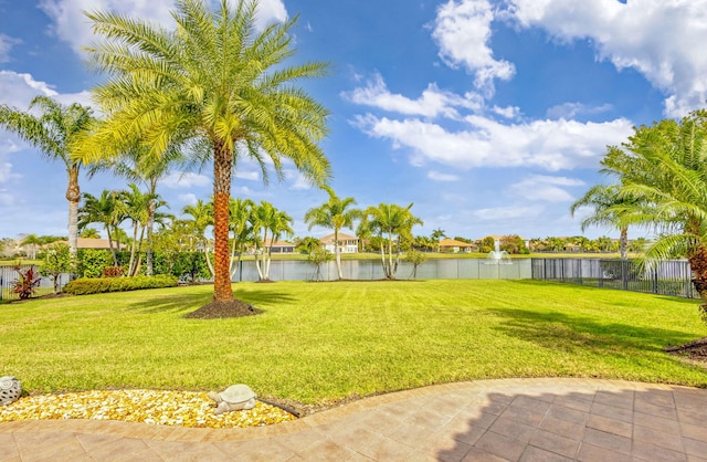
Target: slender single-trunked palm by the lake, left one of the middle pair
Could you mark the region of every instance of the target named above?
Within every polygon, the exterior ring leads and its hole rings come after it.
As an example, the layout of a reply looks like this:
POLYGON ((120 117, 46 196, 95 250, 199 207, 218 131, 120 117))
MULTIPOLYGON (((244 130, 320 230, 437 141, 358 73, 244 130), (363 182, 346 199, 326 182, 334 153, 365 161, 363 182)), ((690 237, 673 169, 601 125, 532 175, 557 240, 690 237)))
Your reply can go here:
POLYGON ((354 198, 340 199, 334 193, 334 189, 328 186, 323 186, 321 189, 327 191, 329 200, 319 207, 314 207, 307 210, 305 213, 305 222, 308 224, 309 230, 314 227, 324 227, 334 230, 334 255, 336 258, 336 269, 339 274, 339 280, 342 280, 344 275, 341 273, 339 231, 341 228, 352 228, 354 221, 361 217, 361 211, 358 209, 349 209, 350 206, 356 204, 356 200, 354 198))

